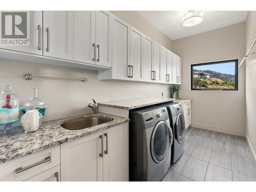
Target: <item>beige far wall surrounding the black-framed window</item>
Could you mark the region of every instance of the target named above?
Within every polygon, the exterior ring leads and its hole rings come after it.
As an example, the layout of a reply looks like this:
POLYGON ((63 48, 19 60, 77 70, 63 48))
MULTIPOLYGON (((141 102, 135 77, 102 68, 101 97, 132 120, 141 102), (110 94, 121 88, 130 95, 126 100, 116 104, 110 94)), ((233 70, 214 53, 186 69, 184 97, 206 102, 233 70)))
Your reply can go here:
POLYGON ((182 57, 180 96, 193 99, 192 126, 244 135, 245 69, 239 69, 239 91, 190 91, 190 64, 244 56, 244 23, 173 41, 182 57))

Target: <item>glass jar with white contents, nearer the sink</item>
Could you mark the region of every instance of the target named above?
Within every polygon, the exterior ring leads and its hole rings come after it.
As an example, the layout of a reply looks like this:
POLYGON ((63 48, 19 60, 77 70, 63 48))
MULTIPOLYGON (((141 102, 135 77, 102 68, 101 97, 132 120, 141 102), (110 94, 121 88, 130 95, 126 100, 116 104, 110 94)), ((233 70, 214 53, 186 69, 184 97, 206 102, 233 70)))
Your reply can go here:
POLYGON ((46 104, 41 99, 37 98, 37 89, 32 90, 32 98, 30 98, 20 108, 23 116, 20 119, 25 133, 35 132, 40 128, 42 116, 46 113, 46 104))

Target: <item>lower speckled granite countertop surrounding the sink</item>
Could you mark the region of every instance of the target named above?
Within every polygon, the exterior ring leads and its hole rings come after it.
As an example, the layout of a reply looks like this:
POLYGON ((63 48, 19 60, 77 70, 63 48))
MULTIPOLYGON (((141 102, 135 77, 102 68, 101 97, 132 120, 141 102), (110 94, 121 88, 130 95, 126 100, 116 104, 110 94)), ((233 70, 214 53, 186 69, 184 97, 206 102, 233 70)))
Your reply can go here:
POLYGON ((78 139, 125 122, 129 122, 129 119, 98 113, 43 122, 37 132, 28 134, 24 133, 22 127, 15 127, 8 134, 0 133, 0 163, 32 154, 69 140, 78 139), (104 117, 112 121, 76 131, 66 130, 60 126, 60 124, 71 120, 88 117, 104 117))

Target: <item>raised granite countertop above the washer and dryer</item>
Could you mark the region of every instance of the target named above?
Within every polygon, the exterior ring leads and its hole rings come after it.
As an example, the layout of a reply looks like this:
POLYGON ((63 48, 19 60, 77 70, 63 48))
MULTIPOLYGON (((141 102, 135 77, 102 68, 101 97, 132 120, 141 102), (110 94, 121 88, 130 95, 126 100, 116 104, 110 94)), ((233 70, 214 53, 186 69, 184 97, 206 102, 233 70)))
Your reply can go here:
POLYGON ((136 108, 141 108, 142 106, 148 106, 168 101, 173 101, 174 98, 138 98, 138 99, 127 99, 127 100, 119 100, 119 101, 109 101, 109 102, 100 102, 98 105, 102 106, 110 106, 112 108, 119 108, 125 110, 132 110, 136 108))

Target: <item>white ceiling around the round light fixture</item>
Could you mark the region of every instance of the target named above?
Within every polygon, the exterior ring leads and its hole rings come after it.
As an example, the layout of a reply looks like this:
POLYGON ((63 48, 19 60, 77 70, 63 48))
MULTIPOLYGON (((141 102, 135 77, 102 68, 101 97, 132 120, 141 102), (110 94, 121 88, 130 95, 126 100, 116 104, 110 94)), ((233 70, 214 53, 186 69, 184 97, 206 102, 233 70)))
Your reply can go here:
POLYGON ((184 27, 182 16, 188 11, 138 12, 172 40, 244 22, 248 13, 248 11, 203 11, 202 23, 193 27, 184 27))

